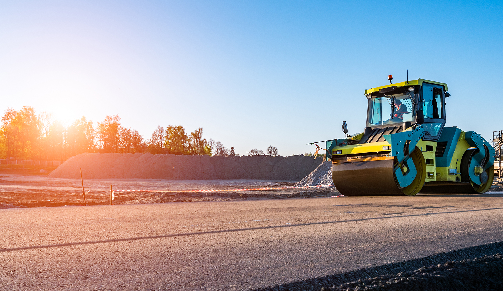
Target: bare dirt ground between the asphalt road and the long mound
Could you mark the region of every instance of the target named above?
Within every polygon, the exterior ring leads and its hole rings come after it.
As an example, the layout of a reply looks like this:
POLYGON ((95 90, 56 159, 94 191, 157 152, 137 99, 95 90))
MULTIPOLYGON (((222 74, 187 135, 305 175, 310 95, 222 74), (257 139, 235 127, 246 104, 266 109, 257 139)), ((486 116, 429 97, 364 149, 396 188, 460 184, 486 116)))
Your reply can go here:
MULTIPOLYGON (((114 204, 142 204, 192 201, 228 201, 284 199, 293 197, 330 197, 340 195, 332 189, 275 189, 217 193, 151 193, 122 190, 220 190, 292 187, 298 181, 270 180, 155 180, 86 179, 86 204, 110 204, 113 185, 114 204)), ((49 178, 41 175, 0 174, 0 208, 83 205, 80 179, 49 178)))

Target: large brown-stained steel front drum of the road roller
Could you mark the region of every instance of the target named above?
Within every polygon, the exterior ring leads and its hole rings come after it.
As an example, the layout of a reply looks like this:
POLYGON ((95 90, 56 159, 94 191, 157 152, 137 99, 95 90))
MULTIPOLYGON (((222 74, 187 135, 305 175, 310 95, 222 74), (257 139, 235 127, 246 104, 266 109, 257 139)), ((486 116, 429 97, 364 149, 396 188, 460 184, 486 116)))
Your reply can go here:
MULTIPOLYGON (((426 180, 426 163, 416 147, 410 159, 417 170, 412 183, 398 186, 393 166, 394 159, 365 162, 333 163, 332 180, 337 190, 346 196, 412 196, 417 194, 426 180)), ((409 160, 410 161, 410 160, 409 160)))

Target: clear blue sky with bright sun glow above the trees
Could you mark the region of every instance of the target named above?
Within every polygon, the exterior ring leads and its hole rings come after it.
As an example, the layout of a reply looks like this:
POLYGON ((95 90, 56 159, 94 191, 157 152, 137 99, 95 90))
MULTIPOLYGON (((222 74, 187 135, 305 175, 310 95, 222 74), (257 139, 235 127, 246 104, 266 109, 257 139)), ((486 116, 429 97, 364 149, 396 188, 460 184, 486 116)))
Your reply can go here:
POLYGON ((501 2, 2 1, 0 97, 69 124, 204 128, 236 153, 365 126, 364 90, 445 82, 447 126, 503 129, 501 2))

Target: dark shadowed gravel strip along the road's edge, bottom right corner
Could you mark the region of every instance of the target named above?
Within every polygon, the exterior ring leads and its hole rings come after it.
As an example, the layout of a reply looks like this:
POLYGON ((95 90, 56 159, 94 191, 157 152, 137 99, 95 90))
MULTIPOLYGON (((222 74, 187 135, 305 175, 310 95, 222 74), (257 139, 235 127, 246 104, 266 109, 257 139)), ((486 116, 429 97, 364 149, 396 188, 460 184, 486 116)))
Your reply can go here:
POLYGON ((503 242, 257 290, 501 290, 503 242))

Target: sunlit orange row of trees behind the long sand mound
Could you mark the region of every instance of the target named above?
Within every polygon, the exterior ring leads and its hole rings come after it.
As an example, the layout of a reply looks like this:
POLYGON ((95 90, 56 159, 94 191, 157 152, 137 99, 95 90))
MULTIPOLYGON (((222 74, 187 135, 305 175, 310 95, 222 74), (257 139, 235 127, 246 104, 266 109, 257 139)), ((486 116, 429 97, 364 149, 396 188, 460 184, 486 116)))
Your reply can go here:
POLYGON ((60 160, 81 153, 151 153, 175 155, 235 155, 220 141, 203 137, 203 128, 187 132, 181 125, 157 126, 149 139, 124 127, 119 115, 107 115, 94 126, 86 117, 64 126, 48 112, 35 114, 24 106, 8 108, 0 128, 0 157, 20 160, 60 160))

